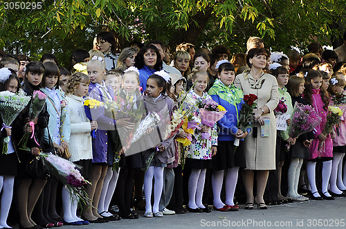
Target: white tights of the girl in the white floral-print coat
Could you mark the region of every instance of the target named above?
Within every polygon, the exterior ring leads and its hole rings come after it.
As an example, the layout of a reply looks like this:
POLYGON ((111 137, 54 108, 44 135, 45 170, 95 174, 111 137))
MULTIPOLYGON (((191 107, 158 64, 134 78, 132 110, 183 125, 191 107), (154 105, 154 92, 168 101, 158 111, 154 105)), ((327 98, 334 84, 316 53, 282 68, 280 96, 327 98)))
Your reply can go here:
POLYGON ((189 178, 189 208, 206 208, 202 203, 204 182, 206 181, 206 169, 191 170, 189 178))

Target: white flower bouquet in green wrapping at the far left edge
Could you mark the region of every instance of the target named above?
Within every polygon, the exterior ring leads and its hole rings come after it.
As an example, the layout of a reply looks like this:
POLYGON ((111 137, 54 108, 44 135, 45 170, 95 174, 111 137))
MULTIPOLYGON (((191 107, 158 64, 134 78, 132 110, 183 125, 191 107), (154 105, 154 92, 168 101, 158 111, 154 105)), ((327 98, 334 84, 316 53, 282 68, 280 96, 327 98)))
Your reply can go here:
MULTIPOLYGON (((11 128, 10 125, 26 107, 30 98, 30 96, 25 95, 23 90, 19 91, 19 93, 12 93, 10 91, 0 92, 0 116, 3 120, 1 131, 3 128, 11 128)), ((2 154, 7 154, 9 141, 9 136, 3 139, 2 154)))

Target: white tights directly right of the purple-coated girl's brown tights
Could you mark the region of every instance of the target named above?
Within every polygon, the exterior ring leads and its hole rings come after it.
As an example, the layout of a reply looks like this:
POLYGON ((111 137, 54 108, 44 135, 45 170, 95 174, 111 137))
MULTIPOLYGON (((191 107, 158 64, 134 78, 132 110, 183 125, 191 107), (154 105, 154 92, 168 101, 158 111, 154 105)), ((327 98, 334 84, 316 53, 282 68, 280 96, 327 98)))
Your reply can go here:
POLYGON ((113 196, 114 190, 116 190, 118 176, 119 174, 113 171, 111 166, 107 168, 107 174, 104 177, 100 201, 98 201, 98 213, 100 214, 103 212, 103 217, 111 217, 113 215, 108 212, 108 209, 109 204, 111 203, 111 197, 113 196))

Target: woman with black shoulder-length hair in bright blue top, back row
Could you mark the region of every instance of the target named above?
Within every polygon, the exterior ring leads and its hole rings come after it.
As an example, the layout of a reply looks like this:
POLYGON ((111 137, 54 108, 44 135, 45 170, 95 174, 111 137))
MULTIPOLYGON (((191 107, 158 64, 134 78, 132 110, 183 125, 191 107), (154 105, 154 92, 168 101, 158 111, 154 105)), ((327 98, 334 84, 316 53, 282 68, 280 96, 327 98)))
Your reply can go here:
POLYGON ((139 70, 139 86, 145 91, 149 76, 162 69, 160 53, 154 44, 148 44, 140 49, 134 62, 134 66, 139 70))

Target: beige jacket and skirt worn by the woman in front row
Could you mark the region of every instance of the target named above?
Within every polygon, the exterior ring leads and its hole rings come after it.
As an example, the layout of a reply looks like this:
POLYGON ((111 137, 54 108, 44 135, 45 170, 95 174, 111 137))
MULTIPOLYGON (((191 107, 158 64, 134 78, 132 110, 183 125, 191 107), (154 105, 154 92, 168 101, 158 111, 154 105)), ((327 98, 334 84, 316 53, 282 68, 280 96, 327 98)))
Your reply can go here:
POLYGON ((242 89, 244 95, 257 95, 257 108, 264 105, 269 113, 263 117, 270 120, 270 134, 261 136, 261 127, 257 125, 257 138, 253 138, 253 131, 245 138, 246 170, 275 170, 275 146, 276 146, 276 120, 273 110, 279 103, 279 93, 276 78, 273 75, 263 73, 259 80, 264 80, 260 89, 251 88, 248 74, 242 73, 235 77, 235 86, 242 89))

